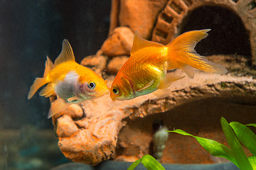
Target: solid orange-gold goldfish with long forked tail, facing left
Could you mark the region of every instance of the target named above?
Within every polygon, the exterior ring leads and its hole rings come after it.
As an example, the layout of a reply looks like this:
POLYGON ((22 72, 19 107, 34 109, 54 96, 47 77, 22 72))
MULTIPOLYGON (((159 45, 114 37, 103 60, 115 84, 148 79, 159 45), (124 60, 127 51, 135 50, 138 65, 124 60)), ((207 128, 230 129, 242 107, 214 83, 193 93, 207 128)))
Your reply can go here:
POLYGON ((184 77, 168 73, 171 69, 181 69, 191 79, 195 69, 227 73, 225 67, 210 62, 194 50, 196 44, 208 36, 208 31, 210 29, 188 31, 167 45, 144 40, 135 33, 130 57, 112 83, 112 100, 129 100, 150 93, 166 96, 171 83, 184 77))

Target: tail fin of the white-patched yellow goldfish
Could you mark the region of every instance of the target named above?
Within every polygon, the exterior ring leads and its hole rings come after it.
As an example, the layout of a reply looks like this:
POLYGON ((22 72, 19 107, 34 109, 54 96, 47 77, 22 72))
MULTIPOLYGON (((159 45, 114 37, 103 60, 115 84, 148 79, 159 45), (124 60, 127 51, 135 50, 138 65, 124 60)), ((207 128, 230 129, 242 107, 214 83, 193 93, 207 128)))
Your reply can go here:
POLYGON ((50 61, 49 57, 46 57, 46 69, 43 73, 43 77, 39 78, 37 77, 35 81, 33 82, 30 91, 28 92, 28 99, 32 98, 34 94, 36 94, 36 91, 38 91, 41 86, 47 84, 49 81, 46 79, 47 74, 50 72, 50 70, 53 69, 53 62, 50 61))

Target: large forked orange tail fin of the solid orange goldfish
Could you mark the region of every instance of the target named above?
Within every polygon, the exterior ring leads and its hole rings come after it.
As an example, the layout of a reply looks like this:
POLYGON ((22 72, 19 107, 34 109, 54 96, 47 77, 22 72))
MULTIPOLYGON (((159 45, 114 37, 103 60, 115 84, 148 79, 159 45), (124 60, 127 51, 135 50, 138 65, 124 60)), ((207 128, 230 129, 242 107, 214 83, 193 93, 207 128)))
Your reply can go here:
MULTIPOLYGON (((210 72, 215 74, 227 73, 228 71, 225 69, 225 67, 220 64, 210 62, 206 59, 206 57, 198 55, 196 50, 194 50, 196 44, 208 36, 208 31, 210 31, 210 29, 189 31, 179 35, 168 45, 166 45, 170 54, 168 60, 168 69, 174 69, 174 67, 182 69, 183 67, 189 65, 203 72, 210 72)), ((192 69, 191 72, 193 72, 192 69)), ((193 73, 190 75, 191 76, 189 77, 193 77, 193 73)))

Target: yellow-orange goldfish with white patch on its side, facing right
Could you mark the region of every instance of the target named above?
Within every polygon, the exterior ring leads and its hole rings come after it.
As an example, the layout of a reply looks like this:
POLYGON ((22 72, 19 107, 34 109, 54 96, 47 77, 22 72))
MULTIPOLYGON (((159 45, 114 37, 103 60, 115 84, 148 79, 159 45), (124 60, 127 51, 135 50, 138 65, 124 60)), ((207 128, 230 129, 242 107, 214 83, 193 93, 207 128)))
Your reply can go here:
POLYGON ((60 55, 54 64, 49 57, 46 58, 46 68, 43 77, 36 78, 33 82, 28 99, 46 85, 39 95, 49 97, 56 95, 59 100, 55 108, 50 108, 48 118, 58 113, 65 103, 80 103, 85 100, 99 98, 109 93, 107 81, 87 67, 75 62, 75 56, 68 40, 63 40, 63 47, 60 55))

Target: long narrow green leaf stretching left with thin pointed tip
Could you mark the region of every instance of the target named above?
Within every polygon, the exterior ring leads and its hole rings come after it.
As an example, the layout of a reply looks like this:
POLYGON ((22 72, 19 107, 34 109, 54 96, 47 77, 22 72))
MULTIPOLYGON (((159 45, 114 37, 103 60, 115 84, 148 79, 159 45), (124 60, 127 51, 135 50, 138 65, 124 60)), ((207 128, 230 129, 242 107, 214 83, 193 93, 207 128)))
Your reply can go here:
POLYGON ((206 138, 203 138, 203 137, 193 136, 193 135, 189 134, 188 132, 185 132, 185 131, 179 130, 179 129, 168 131, 168 132, 176 132, 176 133, 181 134, 181 135, 194 137, 194 138, 196 138, 198 143, 204 149, 206 149, 207 152, 209 152, 213 156, 223 157, 225 159, 230 160, 230 162, 233 162, 233 164, 238 166, 237 162, 235 161, 235 159, 232 156, 232 153, 231 153, 230 149, 228 149, 228 147, 226 147, 225 145, 223 145, 219 142, 216 142, 215 140, 209 140, 209 139, 206 139, 206 138))

